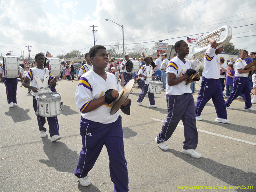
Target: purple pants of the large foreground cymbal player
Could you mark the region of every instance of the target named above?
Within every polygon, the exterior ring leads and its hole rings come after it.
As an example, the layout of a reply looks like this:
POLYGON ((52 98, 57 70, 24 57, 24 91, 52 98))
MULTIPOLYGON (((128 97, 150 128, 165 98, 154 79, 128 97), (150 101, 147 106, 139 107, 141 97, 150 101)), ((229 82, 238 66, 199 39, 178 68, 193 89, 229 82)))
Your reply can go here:
POLYGON ((109 172, 116 191, 129 191, 128 168, 124 155, 122 117, 109 124, 101 124, 81 117, 80 135, 83 148, 74 174, 86 177, 100 155, 103 145, 109 157, 109 172))

